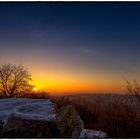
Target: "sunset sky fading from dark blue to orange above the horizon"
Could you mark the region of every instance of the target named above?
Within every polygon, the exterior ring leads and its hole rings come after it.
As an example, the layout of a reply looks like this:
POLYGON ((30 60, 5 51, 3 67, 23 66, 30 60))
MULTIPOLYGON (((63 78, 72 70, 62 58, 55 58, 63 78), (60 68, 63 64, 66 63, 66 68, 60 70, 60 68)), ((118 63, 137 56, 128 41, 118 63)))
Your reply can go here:
POLYGON ((140 3, 0 3, 0 64, 21 64, 37 89, 124 92, 140 82, 140 3))

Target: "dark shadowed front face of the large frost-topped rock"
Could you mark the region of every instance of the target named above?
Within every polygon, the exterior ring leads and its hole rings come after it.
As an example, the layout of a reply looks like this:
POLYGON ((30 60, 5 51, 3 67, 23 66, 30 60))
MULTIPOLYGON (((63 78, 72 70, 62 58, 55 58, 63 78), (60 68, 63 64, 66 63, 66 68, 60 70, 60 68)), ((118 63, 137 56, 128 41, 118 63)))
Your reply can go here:
MULTIPOLYGON (((25 122, 27 124, 27 122, 25 122)), ((59 138, 60 131, 55 122, 35 121, 25 127, 4 127, 3 138, 59 138)))

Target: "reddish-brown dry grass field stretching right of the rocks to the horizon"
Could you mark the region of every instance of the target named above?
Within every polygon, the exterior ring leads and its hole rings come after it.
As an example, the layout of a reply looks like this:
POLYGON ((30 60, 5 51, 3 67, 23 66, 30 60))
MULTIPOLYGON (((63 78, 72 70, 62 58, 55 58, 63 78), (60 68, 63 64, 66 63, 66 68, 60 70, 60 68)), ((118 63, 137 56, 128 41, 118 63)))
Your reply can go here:
POLYGON ((132 95, 73 95, 53 99, 58 107, 72 104, 85 128, 109 138, 140 138, 140 103, 132 95))

